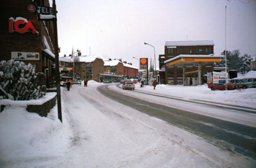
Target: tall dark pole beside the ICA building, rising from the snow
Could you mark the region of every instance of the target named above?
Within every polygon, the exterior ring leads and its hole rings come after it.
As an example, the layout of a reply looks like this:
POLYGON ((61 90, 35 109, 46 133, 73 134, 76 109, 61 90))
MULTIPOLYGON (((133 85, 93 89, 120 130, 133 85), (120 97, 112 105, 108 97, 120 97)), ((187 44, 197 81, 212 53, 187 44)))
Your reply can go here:
POLYGON ((60 66, 59 66, 59 46, 58 46, 58 29, 57 29, 57 11, 55 0, 52 0, 52 14, 55 16, 53 18, 53 31, 54 31, 54 53, 55 53, 55 72, 56 72, 56 88, 57 88, 57 103, 58 103, 58 119, 62 123, 61 114, 61 95, 60 95, 60 66))

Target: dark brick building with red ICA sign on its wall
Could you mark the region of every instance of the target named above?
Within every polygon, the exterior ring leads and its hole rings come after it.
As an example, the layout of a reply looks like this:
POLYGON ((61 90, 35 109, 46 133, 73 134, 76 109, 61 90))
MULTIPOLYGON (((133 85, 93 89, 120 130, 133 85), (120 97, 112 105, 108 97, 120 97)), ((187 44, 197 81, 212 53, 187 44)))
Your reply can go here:
POLYGON ((31 63, 36 72, 44 72, 48 79, 55 74, 52 21, 38 20, 38 14, 28 10, 29 4, 50 6, 48 0, 1 1, 0 61, 31 63))

